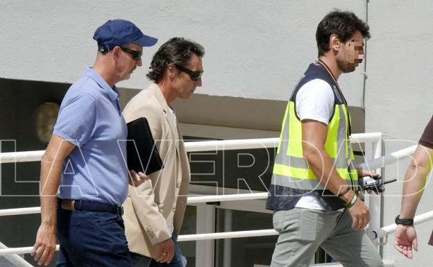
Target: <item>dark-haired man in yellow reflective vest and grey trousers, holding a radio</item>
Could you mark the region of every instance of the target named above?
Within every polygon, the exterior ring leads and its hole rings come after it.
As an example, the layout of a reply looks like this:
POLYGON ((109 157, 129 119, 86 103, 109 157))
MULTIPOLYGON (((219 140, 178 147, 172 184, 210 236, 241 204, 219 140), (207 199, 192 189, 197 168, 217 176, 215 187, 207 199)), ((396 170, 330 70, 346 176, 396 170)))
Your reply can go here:
POLYGON ((353 12, 334 10, 319 23, 319 59, 291 94, 282 121, 270 196, 280 234, 272 267, 309 266, 321 246, 345 267, 383 266, 364 231, 368 208, 357 197, 350 114, 337 83, 364 58, 367 24, 353 12))

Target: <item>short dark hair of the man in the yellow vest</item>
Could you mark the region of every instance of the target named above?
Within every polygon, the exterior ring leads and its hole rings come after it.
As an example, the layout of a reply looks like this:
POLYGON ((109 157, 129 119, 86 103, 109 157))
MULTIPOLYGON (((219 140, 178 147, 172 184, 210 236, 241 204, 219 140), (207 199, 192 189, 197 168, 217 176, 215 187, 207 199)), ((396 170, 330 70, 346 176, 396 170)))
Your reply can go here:
POLYGON ((334 10, 329 12, 317 26, 316 42, 319 56, 330 51, 330 37, 339 36, 341 42, 347 42, 355 31, 361 32, 366 39, 370 38, 370 27, 353 12, 334 10))

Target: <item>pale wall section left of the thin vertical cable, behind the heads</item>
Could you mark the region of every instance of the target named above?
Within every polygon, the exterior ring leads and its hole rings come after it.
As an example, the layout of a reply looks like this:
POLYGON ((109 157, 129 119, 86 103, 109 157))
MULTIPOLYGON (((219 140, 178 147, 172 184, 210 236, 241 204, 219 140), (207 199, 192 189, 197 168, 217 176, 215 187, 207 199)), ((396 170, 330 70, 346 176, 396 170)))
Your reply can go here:
MULTIPOLYGON (((146 88, 151 55, 170 37, 181 36, 206 49, 198 94, 285 100, 316 58, 314 33, 323 15, 339 7, 365 17, 364 0, 327 3, 1 0, 0 77, 73 83, 94 61, 94 30, 108 19, 124 18, 160 41, 144 49, 144 67, 119 86, 146 88)), ((361 105, 361 71, 341 82, 350 105, 361 105)))

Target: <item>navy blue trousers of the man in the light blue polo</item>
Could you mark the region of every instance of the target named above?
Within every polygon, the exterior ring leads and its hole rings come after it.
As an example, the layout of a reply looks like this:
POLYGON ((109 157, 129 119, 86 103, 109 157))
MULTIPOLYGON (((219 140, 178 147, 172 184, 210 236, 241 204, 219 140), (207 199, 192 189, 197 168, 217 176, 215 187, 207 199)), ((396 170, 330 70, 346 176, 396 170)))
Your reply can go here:
POLYGON ((57 212, 58 267, 132 267, 121 216, 60 207, 57 212))

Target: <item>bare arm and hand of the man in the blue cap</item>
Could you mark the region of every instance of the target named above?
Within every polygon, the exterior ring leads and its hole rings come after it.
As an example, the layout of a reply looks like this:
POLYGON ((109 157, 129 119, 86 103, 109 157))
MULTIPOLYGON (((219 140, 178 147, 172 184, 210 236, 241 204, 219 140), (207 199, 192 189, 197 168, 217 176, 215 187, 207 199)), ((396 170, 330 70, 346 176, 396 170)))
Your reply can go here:
POLYGON ((53 135, 41 160, 40 200, 42 221, 31 255, 39 265, 48 265, 56 249, 57 191, 63 160, 74 149, 69 141, 53 135))

